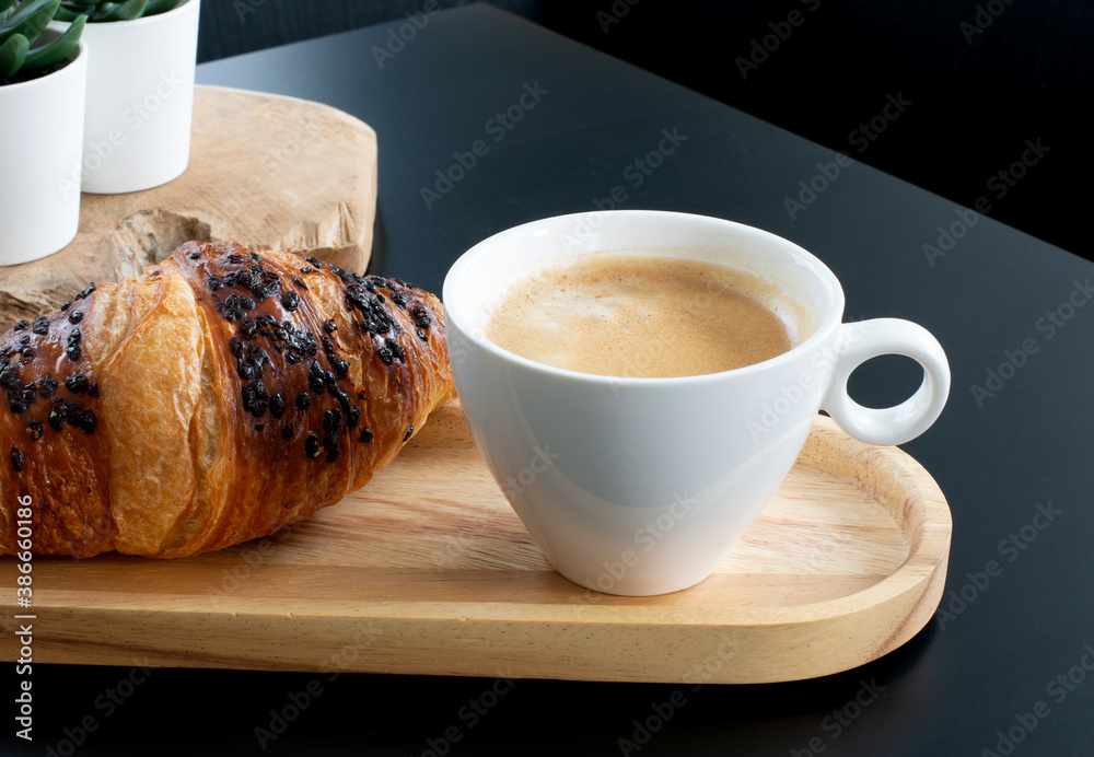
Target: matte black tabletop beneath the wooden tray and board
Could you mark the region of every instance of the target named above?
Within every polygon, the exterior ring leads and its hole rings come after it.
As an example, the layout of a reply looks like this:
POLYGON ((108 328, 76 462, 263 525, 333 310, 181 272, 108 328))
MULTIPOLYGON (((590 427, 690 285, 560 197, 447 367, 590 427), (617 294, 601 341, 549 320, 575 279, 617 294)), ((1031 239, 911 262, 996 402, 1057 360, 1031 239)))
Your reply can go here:
MULTIPOLYGON (((401 47, 399 24, 377 26, 207 63, 198 81, 316 100, 375 128, 376 272, 439 291, 481 238, 616 190, 620 207, 801 244, 842 281, 847 319, 923 324, 954 376, 942 418, 905 446, 953 512, 942 607, 896 652, 800 683, 517 680, 473 720, 494 682, 324 678, 265 744, 255 730, 314 674, 153 671, 104 718, 96 701, 128 668, 36 665, 34 750, 4 746, 9 725, 0 753, 50 754, 97 714, 78 754, 1094 754, 1094 266, 861 163, 816 180, 830 151, 490 7, 427 19, 401 47), (438 185, 478 140, 475 166, 438 185), (673 151, 649 159, 659 145, 673 151), (821 191, 800 196, 803 182, 821 191), (671 717, 643 735, 665 702, 671 717)), ((918 381, 887 358, 852 389, 891 404, 918 381)))

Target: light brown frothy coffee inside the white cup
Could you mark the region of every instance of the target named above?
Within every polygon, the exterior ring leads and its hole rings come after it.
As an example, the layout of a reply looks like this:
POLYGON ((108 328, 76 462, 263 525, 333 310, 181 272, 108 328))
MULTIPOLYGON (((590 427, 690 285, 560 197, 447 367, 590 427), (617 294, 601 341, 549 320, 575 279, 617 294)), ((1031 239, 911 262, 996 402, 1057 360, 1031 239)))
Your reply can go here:
POLYGON ((597 253, 514 278, 486 338, 580 373, 662 378, 775 358, 802 339, 801 306, 753 273, 682 257, 597 253))

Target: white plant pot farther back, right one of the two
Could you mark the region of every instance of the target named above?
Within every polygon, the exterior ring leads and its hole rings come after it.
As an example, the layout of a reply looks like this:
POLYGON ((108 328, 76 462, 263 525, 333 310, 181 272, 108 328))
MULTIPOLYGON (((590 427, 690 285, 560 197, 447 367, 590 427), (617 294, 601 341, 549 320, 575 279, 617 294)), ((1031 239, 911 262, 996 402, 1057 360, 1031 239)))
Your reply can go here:
POLYGON ((151 189, 190 160, 199 0, 135 21, 88 24, 83 190, 151 189))

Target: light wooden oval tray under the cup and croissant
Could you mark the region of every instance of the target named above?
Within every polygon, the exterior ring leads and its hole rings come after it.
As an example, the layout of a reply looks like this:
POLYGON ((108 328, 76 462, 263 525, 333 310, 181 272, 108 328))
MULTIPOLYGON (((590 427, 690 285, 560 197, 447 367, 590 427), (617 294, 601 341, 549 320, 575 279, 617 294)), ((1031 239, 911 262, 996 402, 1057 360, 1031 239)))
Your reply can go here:
MULTIPOLYGON (((435 412, 361 491, 267 539, 174 561, 34 560, 35 662, 581 680, 758 683, 836 673, 941 599, 946 501, 896 447, 827 418, 722 561, 618 597, 548 566, 475 449, 435 412)), ((0 560, 15 585, 12 558, 0 560)), ((5 625, 18 610, 3 592, 5 625)), ((18 656, 4 633, 2 656, 18 656)))

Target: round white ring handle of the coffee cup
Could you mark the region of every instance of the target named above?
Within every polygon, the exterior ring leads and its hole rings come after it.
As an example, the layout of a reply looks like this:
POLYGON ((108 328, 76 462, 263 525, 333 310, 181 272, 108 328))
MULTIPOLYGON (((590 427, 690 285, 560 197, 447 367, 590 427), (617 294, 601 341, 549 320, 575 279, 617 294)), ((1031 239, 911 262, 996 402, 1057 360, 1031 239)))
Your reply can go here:
POLYGON ((843 431, 866 444, 904 444, 931 428, 950 396, 950 363, 930 331, 900 318, 842 324, 837 345, 848 347, 833 371, 822 407, 843 431), (847 394, 847 380, 859 365, 883 354, 903 354, 923 366, 923 383, 894 407, 873 409, 847 394))

